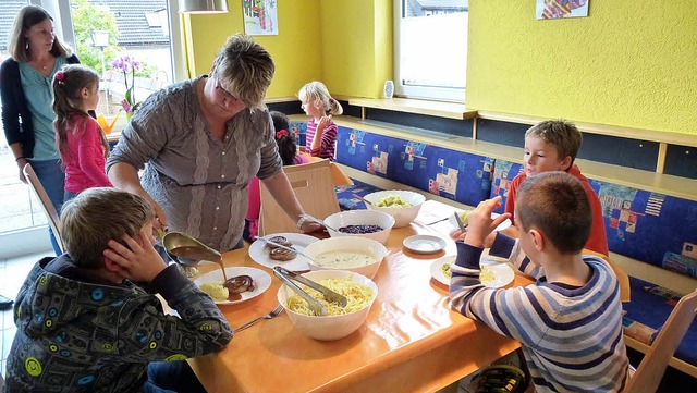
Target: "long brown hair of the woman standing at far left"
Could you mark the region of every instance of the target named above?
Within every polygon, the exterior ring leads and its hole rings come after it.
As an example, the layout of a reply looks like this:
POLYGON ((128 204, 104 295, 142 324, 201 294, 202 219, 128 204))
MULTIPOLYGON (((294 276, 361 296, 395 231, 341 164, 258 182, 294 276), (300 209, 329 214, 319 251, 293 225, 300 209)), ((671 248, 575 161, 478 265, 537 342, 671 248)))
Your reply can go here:
MULTIPOLYGON (((26 38, 26 32, 47 19, 53 21, 48 11, 38 5, 26 5, 20 10, 10 29, 8 42, 8 52, 14 60, 23 63, 32 60, 32 50, 29 40, 26 38)), ((54 58, 61 56, 66 58, 72 54, 72 49, 58 36, 53 36, 53 46, 50 52, 54 58)))

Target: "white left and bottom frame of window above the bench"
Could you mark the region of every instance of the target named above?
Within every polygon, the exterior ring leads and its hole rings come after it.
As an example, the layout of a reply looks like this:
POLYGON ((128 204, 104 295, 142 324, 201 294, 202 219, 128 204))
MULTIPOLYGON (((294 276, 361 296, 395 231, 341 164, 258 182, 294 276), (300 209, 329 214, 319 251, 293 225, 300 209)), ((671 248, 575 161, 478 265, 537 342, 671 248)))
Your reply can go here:
POLYGON ((400 33, 401 33, 401 20, 404 13, 403 3, 407 0, 393 0, 393 78, 394 78, 394 93, 395 96, 406 97, 406 98, 421 98, 421 99, 431 99, 431 100, 440 100, 440 101, 451 101, 451 102, 465 102, 465 88, 456 88, 456 87, 426 87, 426 86, 405 86, 402 84, 402 79, 400 78, 401 70, 400 70, 400 33))

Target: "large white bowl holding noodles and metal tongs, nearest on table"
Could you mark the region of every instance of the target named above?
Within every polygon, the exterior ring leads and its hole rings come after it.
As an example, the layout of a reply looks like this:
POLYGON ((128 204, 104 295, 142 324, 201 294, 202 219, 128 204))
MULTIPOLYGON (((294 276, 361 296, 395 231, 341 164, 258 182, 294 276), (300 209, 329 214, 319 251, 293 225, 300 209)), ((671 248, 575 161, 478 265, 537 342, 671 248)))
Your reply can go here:
POLYGON ((307 272, 303 275, 316 282, 326 279, 351 279, 353 280, 353 282, 368 286, 370 290, 372 290, 372 298, 370 299, 370 302, 368 302, 368 305, 355 312, 343 316, 315 317, 291 311, 286 306, 286 299, 291 295, 293 295, 294 292, 286 285, 281 285, 277 297, 279 299, 279 303, 283 306, 283 308, 285 308, 285 314, 288 314, 289 318, 291 319, 291 323, 302 334, 315 340, 339 340, 358 330, 358 328, 360 328, 363 322, 365 322, 366 318, 368 317, 370 307, 372 306, 375 298, 378 296, 378 285, 376 285, 372 280, 368 279, 365 275, 351 271, 317 270, 307 272))

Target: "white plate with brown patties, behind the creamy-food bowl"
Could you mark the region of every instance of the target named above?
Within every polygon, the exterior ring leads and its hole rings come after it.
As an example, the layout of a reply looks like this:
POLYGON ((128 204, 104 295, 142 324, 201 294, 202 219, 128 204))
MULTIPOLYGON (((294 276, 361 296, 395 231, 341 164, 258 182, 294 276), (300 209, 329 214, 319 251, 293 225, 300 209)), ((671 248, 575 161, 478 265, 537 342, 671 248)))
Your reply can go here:
MULTIPOLYGON (((305 247, 318 241, 317 237, 303 233, 277 233, 264 236, 264 238, 293 248, 299 253, 303 253, 305 247)), ((264 238, 257 238, 252 243, 252 246, 249 246, 249 257, 252 257, 255 262, 271 269, 281 266, 290 271, 309 270, 309 265, 307 265, 305 257, 289 249, 271 245, 265 242, 264 238)))

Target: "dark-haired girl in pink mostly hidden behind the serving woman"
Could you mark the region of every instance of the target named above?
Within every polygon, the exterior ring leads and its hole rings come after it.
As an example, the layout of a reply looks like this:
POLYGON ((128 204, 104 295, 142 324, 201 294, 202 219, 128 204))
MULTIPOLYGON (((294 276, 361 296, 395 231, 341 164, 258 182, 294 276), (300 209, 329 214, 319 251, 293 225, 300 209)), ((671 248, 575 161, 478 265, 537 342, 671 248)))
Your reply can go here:
MULTIPOLYGON (((289 132, 290 122, 284 113, 271 111, 273 130, 276 132, 276 144, 279 146, 279 155, 284 165, 296 165, 307 163, 307 158, 297 153, 295 137, 289 132)), ((244 232, 242 237, 252 243, 257 238, 259 231, 259 210, 261 210, 261 195, 259 193, 259 177, 254 177, 247 186, 249 202, 247 205, 247 217, 244 220, 244 232)))

